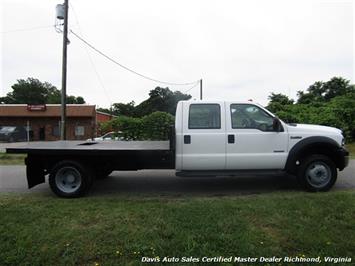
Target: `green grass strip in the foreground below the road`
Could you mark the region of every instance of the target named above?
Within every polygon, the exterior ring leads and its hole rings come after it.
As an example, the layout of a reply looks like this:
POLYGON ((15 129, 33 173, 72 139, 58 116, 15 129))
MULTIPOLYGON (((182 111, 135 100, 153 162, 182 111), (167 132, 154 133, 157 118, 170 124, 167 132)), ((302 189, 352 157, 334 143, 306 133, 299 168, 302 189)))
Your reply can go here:
POLYGON ((350 191, 74 200, 2 194, 0 213, 0 265, 140 265, 142 256, 351 257, 355 250, 350 191))

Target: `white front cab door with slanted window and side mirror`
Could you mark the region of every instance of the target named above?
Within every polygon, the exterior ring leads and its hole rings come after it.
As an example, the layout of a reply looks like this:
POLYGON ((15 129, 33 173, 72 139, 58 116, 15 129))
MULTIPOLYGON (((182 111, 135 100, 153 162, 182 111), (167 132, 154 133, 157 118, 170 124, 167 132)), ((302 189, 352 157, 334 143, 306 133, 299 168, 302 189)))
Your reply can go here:
POLYGON ((227 170, 283 169, 288 133, 273 129, 274 117, 255 104, 226 103, 227 170))

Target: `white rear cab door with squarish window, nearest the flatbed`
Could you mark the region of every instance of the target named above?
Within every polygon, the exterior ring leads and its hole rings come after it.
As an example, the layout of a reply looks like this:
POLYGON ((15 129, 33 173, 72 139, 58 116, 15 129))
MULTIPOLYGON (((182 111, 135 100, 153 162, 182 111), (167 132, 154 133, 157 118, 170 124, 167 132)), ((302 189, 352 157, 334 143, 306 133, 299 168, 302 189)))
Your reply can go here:
POLYGON ((224 103, 184 102, 182 170, 225 170, 224 103))

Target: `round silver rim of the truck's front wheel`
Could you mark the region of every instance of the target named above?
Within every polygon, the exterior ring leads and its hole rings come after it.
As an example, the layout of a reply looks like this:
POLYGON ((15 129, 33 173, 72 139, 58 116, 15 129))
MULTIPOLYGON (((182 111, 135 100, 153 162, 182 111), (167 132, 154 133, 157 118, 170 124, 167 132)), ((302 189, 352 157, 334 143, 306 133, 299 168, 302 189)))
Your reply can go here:
POLYGON ((321 161, 312 162, 306 169, 306 178, 315 188, 326 186, 332 177, 330 167, 321 161))

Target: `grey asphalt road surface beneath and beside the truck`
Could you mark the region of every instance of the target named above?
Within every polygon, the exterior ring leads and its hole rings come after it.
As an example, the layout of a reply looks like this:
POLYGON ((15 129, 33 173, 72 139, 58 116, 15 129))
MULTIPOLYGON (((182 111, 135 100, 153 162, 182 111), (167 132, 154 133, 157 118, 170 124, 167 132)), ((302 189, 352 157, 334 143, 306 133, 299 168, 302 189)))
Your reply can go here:
MULTIPOLYGON (((339 172, 332 191, 355 189, 355 160, 339 172)), ((140 194, 146 196, 228 196, 275 191, 301 191, 295 177, 176 177, 174 170, 115 171, 104 180, 97 180, 91 195, 140 194)), ((0 166, 0 192, 51 194, 48 182, 27 189, 25 166, 0 166)))

